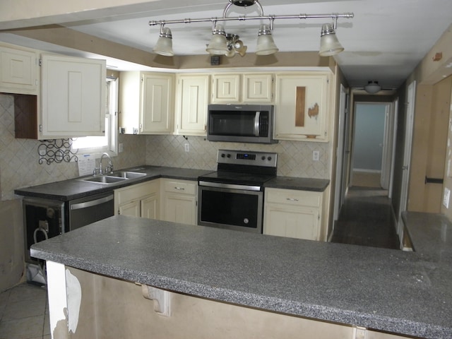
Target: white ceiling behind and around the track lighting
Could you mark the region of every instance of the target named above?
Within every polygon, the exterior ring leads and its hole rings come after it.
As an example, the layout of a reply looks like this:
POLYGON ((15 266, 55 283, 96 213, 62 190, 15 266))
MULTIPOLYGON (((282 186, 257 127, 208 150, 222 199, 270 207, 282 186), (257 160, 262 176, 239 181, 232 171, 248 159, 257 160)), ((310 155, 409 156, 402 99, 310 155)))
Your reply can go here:
MULTIPOLYGON (((73 30, 152 52, 160 26, 149 20, 222 17, 228 0, 155 0, 125 6, 121 13, 103 11, 97 16, 61 16, 59 23, 73 30)), ((264 16, 354 13, 339 18, 336 35, 345 51, 336 55, 352 88, 379 81, 383 88, 398 88, 452 23, 451 0, 260 0, 264 16)), ((258 16, 258 6, 231 6, 227 17, 258 16)), ((239 35, 256 49, 261 20, 228 21, 226 32, 239 35)), ((263 23, 267 23, 263 20, 263 23)), ((50 23, 50 21, 49 21, 50 23)), ((320 30, 331 19, 276 19, 273 39, 280 52, 318 51, 320 30)), ((211 23, 166 25, 172 30, 177 55, 206 54, 211 23)), ((0 26, 0 28, 2 28, 0 26)), ((4 28, 4 26, 3 26, 4 28)), ((1 37, 0 37, 1 40, 1 37)), ((234 58, 240 58, 236 55, 234 58)))

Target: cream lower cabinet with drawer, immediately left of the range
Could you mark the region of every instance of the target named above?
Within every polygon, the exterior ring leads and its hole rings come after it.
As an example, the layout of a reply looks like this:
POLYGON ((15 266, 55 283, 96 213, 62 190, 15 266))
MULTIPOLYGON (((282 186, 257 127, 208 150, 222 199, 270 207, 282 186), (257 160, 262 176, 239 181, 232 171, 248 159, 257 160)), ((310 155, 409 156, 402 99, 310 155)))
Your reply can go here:
POLYGON ((162 220, 196 225, 196 182, 161 179, 162 220))

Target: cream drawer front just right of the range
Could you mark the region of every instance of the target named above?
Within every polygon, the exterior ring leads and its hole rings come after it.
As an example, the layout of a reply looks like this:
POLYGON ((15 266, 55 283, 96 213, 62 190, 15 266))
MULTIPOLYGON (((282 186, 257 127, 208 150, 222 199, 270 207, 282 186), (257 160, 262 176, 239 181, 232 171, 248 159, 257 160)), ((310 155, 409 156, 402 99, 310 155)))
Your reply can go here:
POLYGON ((322 192, 266 189, 266 203, 283 203, 285 205, 319 208, 322 203, 322 196, 322 192))

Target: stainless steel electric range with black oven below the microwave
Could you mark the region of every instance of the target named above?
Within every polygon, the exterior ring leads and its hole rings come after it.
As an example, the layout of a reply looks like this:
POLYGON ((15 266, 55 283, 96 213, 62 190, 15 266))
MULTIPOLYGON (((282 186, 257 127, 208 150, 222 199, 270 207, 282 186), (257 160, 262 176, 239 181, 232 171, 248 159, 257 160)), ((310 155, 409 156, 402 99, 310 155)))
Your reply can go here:
POLYGON ((218 150, 217 172, 198 177, 198 225, 262 233, 263 184, 277 153, 218 150))

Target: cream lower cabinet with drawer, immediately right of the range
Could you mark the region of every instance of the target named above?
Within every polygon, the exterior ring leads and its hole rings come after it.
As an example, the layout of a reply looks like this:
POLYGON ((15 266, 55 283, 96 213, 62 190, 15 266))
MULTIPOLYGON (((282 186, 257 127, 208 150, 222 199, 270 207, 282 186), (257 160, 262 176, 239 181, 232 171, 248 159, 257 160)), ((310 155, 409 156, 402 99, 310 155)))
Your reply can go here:
POLYGON ((323 192, 266 189, 263 234, 320 240, 323 192))

